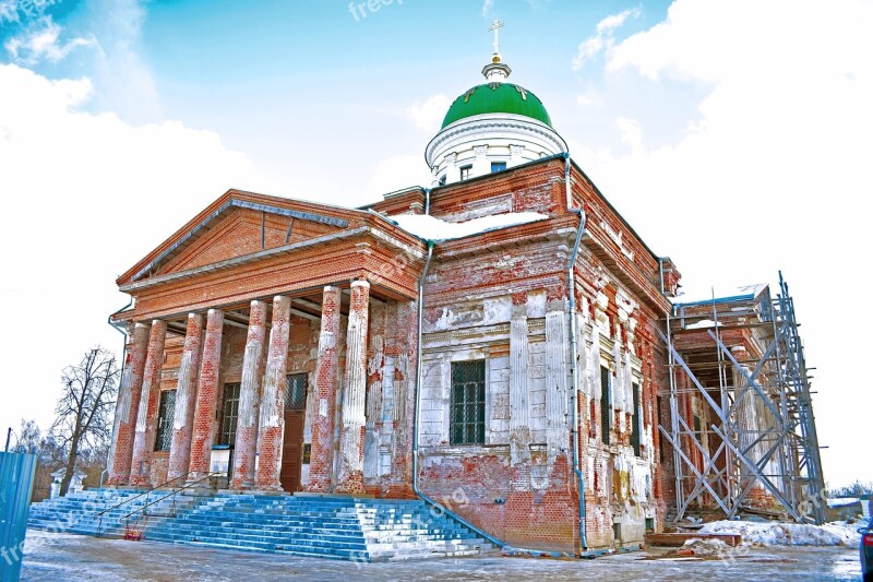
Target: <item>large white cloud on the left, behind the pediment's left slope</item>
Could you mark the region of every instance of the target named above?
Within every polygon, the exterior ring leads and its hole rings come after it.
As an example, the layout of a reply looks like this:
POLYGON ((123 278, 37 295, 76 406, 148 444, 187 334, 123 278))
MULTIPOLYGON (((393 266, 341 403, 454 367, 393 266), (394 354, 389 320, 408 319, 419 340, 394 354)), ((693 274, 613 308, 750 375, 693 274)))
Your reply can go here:
POLYGON ((83 112, 88 79, 8 64, 0 86, 0 300, 15 330, 0 354, 8 384, 27 387, 7 392, 0 426, 23 416, 46 425, 61 368, 98 343, 120 351, 106 324, 127 302, 115 278, 228 187, 275 190, 213 132, 83 112))

